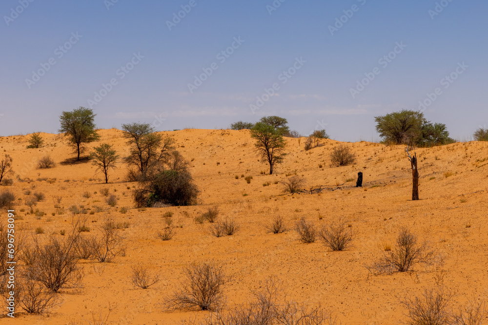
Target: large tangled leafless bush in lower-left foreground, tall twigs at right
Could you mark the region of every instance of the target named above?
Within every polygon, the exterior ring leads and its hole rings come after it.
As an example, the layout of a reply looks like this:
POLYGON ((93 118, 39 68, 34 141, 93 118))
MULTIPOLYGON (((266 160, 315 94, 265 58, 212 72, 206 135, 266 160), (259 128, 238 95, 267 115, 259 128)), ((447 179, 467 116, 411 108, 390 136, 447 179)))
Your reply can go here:
POLYGON ((75 253, 75 242, 79 233, 72 233, 63 240, 50 237, 47 244, 40 244, 38 237, 34 239, 35 263, 30 267, 33 279, 45 287, 58 292, 62 287, 80 281, 82 270, 78 265, 75 253))

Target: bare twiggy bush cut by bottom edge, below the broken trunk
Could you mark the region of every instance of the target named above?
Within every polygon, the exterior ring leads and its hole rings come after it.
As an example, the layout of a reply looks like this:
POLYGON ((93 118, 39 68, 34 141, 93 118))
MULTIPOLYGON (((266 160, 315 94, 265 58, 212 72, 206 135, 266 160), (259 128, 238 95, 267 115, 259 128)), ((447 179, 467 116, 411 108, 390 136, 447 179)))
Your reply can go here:
POLYGON ((401 300, 407 307, 408 325, 444 325, 449 323, 448 304, 452 295, 444 288, 425 288, 421 296, 401 300))

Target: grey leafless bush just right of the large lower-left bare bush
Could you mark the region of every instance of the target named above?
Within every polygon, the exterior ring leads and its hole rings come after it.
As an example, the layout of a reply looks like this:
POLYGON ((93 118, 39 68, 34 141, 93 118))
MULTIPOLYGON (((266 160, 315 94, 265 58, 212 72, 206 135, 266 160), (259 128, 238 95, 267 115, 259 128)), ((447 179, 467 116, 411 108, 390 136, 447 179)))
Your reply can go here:
POLYGON ((111 262, 122 254, 123 237, 111 219, 105 220, 100 230, 102 235, 94 236, 91 241, 93 255, 99 262, 111 262))

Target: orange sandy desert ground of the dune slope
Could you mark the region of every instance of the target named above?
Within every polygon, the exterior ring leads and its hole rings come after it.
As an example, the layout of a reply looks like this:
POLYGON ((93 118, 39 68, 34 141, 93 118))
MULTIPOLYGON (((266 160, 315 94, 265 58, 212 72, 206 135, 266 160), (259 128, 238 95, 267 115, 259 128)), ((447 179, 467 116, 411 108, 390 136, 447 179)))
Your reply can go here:
MULTIPOLYGON (((115 145, 121 156, 128 153, 121 131, 99 133, 100 142, 115 145)), ((26 149, 28 135, 0 138, 0 148, 12 156, 15 172, 14 184, 1 188, 18 198, 15 210, 20 218, 15 226, 27 239, 37 236, 42 241, 61 236, 63 229, 69 231, 73 215, 68 209, 73 205, 97 211, 81 215, 90 228, 83 235, 97 234, 107 217, 130 223, 120 230, 127 244, 125 256, 112 263, 81 260, 81 286, 61 289, 60 306, 48 315, 4 317, 1 324, 88 324, 93 315, 109 315, 105 324, 173 325, 190 317, 203 320, 208 312, 164 307, 165 299, 184 280, 183 267, 193 262, 213 262, 232 277, 224 286, 226 308, 244 303, 253 290, 275 276, 287 299, 320 304, 342 324, 399 324, 406 313, 400 300, 420 294, 425 287, 446 287, 454 294, 454 306, 487 300, 488 143, 416 149, 421 200, 411 201, 412 173, 404 146, 345 143, 356 153, 356 164, 331 168, 329 155, 341 142, 325 139, 322 146, 305 151, 305 138, 286 138, 288 155, 269 175, 247 130, 185 129, 163 134, 174 136, 176 149, 190 162, 201 191, 196 206, 135 209, 131 193, 137 184, 124 181, 126 166, 120 163, 110 172, 109 184, 104 184, 103 175, 89 161, 65 162, 74 154, 62 134, 41 133, 46 143, 40 149, 26 149), (37 161, 46 154, 56 167, 37 169, 37 161), (355 187, 358 172, 364 173, 363 188, 355 187), (243 174, 253 177, 250 184, 243 174), (280 182, 294 174, 306 179, 307 190, 326 189, 313 194, 284 193, 280 182), (115 207, 105 203, 104 188, 118 197, 115 207), (45 212, 41 218, 28 213, 25 202, 32 194, 25 193, 29 190, 45 194, 34 207, 45 212), (55 208, 59 196, 61 209, 55 208), (235 235, 216 238, 209 223, 194 222, 194 217, 215 205, 219 218, 233 218, 240 225, 235 235), (121 213, 123 207, 130 210, 121 213), (64 213, 59 214, 62 208, 64 213), (167 211, 173 212, 173 225, 178 228, 173 239, 162 241, 156 234, 165 226, 167 211), (288 230, 284 233, 272 234, 265 228, 276 216, 285 220, 288 230), (353 247, 330 251, 321 241, 301 243, 293 227, 302 217, 318 227, 342 217, 353 230, 353 247), (44 233, 36 234, 37 228, 44 233), (444 264, 371 275, 365 265, 382 256, 385 244, 394 245, 402 228, 428 239, 444 256, 444 264), (130 281, 134 265, 159 274, 160 281, 145 290, 134 287, 130 281)), ((97 144, 88 144, 88 150, 97 144)), ((6 211, 1 214, 4 222, 6 211)))

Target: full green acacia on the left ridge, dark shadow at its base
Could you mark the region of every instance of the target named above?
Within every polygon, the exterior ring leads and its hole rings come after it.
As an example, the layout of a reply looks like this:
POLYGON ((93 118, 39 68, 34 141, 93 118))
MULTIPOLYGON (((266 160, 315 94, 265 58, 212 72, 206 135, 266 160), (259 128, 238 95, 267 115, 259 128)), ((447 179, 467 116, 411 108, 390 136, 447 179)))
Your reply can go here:
POLYGON ((68 135, 71 145, 75 148, 77 159, 85 149, 84 144, 100 138, 95 131, 95 116, 89 108, 79 107, 72 112, 62 112, 60 116, 60 133, 68 135))

